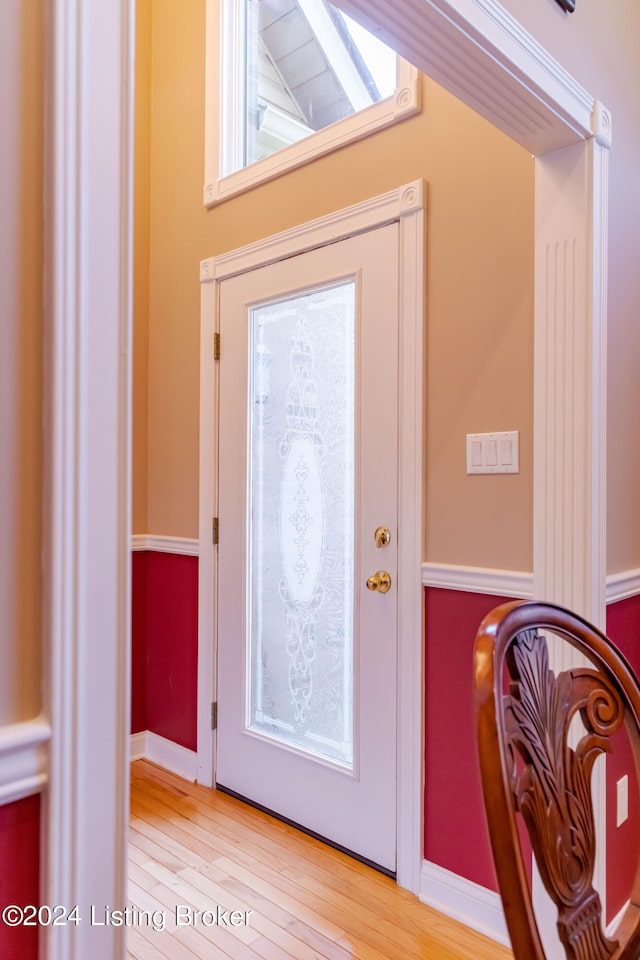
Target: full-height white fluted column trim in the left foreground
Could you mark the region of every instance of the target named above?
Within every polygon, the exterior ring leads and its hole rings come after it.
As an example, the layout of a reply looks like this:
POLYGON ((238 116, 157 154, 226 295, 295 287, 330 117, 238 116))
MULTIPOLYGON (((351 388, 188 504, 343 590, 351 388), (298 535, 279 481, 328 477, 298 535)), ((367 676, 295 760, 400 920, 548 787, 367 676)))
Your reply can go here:
POLYGON ((53 0, 47 96, 41 902, 47 960, 114 960, 126 905, 132 5, 53 0))

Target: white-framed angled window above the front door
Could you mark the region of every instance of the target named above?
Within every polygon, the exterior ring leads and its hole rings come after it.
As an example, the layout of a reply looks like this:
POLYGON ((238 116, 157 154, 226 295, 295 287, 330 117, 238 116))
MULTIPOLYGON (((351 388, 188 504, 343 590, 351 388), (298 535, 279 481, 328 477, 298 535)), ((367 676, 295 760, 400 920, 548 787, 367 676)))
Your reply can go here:
POLYGON ((419 109, 417 70, 326 0, 207 0, 207 206, 419 109))

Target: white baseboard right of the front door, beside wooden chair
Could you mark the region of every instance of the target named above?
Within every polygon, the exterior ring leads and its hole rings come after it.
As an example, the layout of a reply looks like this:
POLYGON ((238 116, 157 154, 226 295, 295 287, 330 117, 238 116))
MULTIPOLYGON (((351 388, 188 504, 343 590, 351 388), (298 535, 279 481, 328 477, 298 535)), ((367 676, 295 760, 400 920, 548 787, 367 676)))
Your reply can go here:
POLYGON ((472 930, 506 947, 511 945, 499 893, 423 860, 419 898, 472 930))

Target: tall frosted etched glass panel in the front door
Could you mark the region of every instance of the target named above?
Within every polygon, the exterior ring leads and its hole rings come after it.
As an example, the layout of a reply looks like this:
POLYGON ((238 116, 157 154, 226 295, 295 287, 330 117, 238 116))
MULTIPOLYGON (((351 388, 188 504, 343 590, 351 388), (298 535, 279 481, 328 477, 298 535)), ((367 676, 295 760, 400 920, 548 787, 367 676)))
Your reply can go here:
POLYGON ((248 726, 351 767, 355 282, 250 333, 248 726))

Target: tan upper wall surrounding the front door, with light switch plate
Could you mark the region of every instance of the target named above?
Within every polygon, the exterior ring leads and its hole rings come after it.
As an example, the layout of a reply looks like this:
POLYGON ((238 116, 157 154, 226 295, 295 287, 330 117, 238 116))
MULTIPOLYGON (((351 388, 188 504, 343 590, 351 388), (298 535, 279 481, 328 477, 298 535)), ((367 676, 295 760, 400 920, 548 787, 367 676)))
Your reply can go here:
POLYGON ((425 556, 531 569, 531 157, 425 80, 421 115, 206 211, 204 6, 153 3, 148 532, 197 536, 199 261, 422 177, 425 556), (520 475, 467 477, 465 434, 514 429, 520 475))

